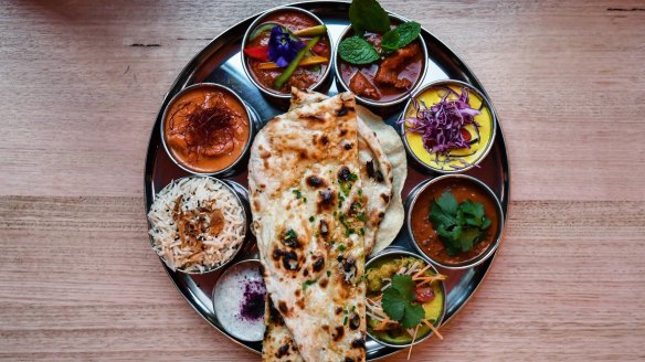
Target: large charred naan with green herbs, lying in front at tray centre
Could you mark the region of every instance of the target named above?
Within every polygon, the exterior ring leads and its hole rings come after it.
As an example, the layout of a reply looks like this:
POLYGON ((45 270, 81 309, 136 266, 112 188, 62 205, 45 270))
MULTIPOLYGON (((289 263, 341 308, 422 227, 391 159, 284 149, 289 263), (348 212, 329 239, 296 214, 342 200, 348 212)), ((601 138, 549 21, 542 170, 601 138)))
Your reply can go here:
POLYGON ((267 294, 293 336, 267 330, 265 361, 285 360, 276 341, 304 361, 364 361, 358 128, 353 95, 340 94, 275 117, 253 142, 253 228, 267 294))

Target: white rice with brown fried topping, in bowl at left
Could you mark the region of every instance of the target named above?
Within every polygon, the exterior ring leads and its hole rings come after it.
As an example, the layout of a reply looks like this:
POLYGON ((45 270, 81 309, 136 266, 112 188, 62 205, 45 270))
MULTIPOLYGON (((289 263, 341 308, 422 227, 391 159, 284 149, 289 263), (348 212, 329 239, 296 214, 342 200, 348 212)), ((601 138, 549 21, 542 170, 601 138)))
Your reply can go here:
POLYGON ((246 232, 239 199, 221 181, 211 178, 171 182, 157 194, 148 220, 155 252, 169 268, 189 273, 208 272, 229 262, 246 232), (212 228, 208 224, 215 221, 219 227, 210 233, 212 228), (194 231, 195 224, 205 224, 205 230, 199 228, 194 237, 187 237, 187 225, 189 231, 194 231))

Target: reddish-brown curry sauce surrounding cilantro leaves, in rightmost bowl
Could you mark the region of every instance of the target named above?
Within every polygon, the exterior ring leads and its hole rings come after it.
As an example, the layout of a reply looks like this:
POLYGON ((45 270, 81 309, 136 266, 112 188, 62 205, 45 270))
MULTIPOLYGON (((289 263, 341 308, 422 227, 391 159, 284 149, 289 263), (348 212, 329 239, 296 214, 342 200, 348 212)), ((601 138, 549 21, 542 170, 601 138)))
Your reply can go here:
POLYGON ((495 242, 499 228, 499 215, 495 201, 486 190, 468 180, 445 179, 431 184, 419 195, 411 211, 410 225, 414 241, 429 257, 442 264, 457 265, 484 254, 495 242), (490 227, 486 231, 486 236, 468 252, 457 255, 448 255, 429 217, 432 201, 438 199, 445 191, 450 191, 458 203, 470 200, 484 204, 486 216, 490 219, 490 227))

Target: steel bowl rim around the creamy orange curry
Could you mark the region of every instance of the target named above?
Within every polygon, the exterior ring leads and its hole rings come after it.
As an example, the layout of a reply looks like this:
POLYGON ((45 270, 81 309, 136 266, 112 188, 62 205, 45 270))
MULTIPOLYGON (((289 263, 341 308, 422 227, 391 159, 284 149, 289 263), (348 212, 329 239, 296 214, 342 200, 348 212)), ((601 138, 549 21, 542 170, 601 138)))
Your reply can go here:
POLYGON ((216 84, 216 83, 193 84, 189 87, 181 89, 181 92, 176 94, 172 97, 172 99, 170 99, 168 105, 166 106, 166 109, 163 109, 163 116, 161 117, 161 125, 160 125, 160 127, 161 127, 161 145, 163 145, 163 149, 166 150, 166 153, 168 155, 170 160, 172 160, 172 162, 175 164, 177 164, 177 167, 179 167, 180 169, 182 169, 186 172, 189 172, 189 173, 192 173, 195 175, 229 177, 229 175, 232 175, 233 173, 235 173, 235 171, 237 170, 236 166, 240 164, 240 162, 249 156, 249 150, 251 149, 251 143, 253 143, 253 137, 255 134, 255 121, 256 121, 255 118, 256 118, 256 114, 253 110, 253 108, 251 108, 251 106, 249 106, 244 100, 242 100, 242 98, 235 92, 233 92, 231 88, 225 87, 221 84, 216 84), (178 160, 175 157, 175 155, 172 155, 170 147, 166 142, 166 120, 168 117, 168 113, 170 111, 170 109, 172 108, 172 106, 175 105, 175 103, 178 99, 180 99, 187 93, 194 91, 197 88, 211 88, 213 91, 220 91, 223 93, 228 93, 229 95, 232 95, 233 97, 235 97, 235 99, 237 99, 240 102, 240 104, 242 104, 244 106, 244 110, 246 111, 246 118, 249 119, 249 139, 246 140, 246 145, 244 146, 242 153, 240 153, 240 157, 237 157, 237 159, 235 161, 233 161, 233 163, 231 163, 228 167, 225 167, 221 170, 218 170, 218 171, 201 172, 201 171, 193 170, 192 168, 190 168, 190 166, 184 164, 180 160, 178 160))

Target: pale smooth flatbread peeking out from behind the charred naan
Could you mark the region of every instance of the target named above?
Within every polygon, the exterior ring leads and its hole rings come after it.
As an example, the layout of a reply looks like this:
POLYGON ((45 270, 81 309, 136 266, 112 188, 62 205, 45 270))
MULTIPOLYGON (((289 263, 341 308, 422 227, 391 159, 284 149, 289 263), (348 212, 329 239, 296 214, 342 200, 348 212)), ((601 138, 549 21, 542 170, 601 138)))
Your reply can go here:
MULTIPOLYGON (((289 109, 294 109, 304 104, 317 103, 326 98, 328 98, 328 96, 321 93, 304 92, 293 88, 289 109)), ((369 242, 372 237, 372 233, 366 232, 366 245, 370 246, 371 254, 374 255, 392 244, 401 231, 401 227, 403 226, 405 211, 403 209, 401 192, 403 191, 403 185, 405 183, 405 179, 408 178, 408 159, 405 157, 403 141, 392 126, 385 124, 381 117, 374 115, 368 108, 360 105, 357 105, 357 115, 359 118, 359 125, 362 124, 367 126, 367 128, 372 131, 369 134, 376 135, 378 145, 372 146, 371 149, 378 149, 380 150, 378 153, 384 153, 384 158, 388 160, 388 162, 382 162, 382 164, 391 164, 392 198, 387 205, 387 209, 382 207, 380 204, 379 206, 374 207, 384 209, 385 213, 378 227, 373 230, 373 243, 369 242)), ((361 132, 361 129, 359 128, 359 138, 362 135, 368 135, 368 132, 364 129, 361 132)), ((371 140, 371 143, 374 145, 376 142, 371 140)), ((369 223, 366 228, 370 228, 369 223)))

